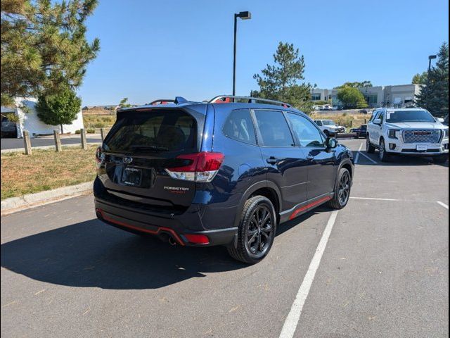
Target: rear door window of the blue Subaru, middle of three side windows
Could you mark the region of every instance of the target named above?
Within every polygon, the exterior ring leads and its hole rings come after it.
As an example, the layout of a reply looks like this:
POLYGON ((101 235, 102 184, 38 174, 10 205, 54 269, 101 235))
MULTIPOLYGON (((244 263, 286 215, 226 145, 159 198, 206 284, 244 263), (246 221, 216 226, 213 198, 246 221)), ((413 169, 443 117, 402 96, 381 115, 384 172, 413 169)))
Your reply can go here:
POLYGON ((281 111, 255 111, 264 146, 294 146, 293 135, 281 111))

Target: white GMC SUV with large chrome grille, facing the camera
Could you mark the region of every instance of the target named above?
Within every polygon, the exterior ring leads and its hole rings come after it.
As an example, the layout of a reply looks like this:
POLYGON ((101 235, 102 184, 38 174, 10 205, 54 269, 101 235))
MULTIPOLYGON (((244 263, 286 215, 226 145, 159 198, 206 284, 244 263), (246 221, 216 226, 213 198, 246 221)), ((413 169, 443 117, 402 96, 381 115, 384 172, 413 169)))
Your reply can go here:
POLYGON ((437 163, 449 158, 449 127, 422 108, 379 108, 367 125, 366 150, 390 155, 432 156, 437 163))

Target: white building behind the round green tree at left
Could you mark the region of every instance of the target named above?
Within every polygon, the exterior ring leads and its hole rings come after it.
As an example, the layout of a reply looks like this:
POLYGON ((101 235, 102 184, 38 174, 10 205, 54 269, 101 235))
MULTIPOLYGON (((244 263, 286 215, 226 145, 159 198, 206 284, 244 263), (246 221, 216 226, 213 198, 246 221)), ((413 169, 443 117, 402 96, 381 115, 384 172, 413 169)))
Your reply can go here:
MULTIPOLYGON (((1 107, 1 113, 15 113, 19 117, 19 123, 16 124, 17 135, 22 137, 22 132, 27 130, 30 132, 30 137, 34 137, 37 134, 53 134, 53 130, 60 131, 59 125, 46 125, 37 116, 36 103, 37 99, 34 98, 17 98, 15 99, 16 106, 19 108, 1 107), (23 110, 23 107, 27 107, 27 113, 23 110)), ((63 131, 75 133, 75 130, 84 128, 83 115, 81 109, 77 115, 77 118, 70 125, 63 125, 63 131)))

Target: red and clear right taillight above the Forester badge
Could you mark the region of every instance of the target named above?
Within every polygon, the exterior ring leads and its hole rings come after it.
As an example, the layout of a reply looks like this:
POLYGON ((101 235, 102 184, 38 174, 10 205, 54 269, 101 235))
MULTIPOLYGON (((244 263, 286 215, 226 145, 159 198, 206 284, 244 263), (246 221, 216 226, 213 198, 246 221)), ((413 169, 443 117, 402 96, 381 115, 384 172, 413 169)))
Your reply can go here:
POLYGON ((224 162, 224 154, 203 151, 201 153, 176 156, 186 160, 186 165, 168 168, 166 172, 176 180, 211 182, 224 162))

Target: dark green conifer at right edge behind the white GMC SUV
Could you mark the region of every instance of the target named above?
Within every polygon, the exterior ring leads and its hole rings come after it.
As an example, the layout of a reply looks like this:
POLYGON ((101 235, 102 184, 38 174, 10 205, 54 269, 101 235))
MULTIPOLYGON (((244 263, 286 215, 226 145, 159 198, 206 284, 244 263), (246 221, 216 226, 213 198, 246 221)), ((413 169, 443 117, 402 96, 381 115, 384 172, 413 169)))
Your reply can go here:
POLYGON ((439 49, 437 63, 421 86, 416 103, 434 116, 449 114, 449 45, 446 42, 439 49))

